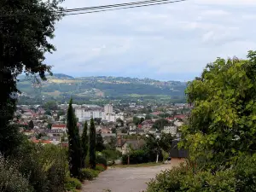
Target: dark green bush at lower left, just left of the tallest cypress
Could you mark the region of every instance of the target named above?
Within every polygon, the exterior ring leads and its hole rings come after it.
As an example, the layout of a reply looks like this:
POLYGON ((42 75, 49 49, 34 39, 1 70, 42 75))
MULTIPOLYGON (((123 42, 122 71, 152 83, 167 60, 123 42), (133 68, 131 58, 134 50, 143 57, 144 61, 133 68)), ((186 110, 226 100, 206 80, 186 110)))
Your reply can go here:
POLYGON ((17 172, 28 180, 33 191, 64 190, 68 170, 65 149, 55 145, 36 145, 25 139, 8 160, 9 165, 15 165, 17 172))

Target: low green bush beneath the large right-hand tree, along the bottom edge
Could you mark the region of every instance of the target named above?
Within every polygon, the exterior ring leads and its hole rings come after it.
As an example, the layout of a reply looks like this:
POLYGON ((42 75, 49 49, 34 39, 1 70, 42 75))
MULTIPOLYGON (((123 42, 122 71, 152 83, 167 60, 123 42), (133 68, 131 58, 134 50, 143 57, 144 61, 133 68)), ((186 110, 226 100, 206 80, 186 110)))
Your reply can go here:
POLYGON ((224 171, 196 171, 192 166, 179 166, 161 172, 148 183, 148 192, 256 191, 256 154, 244 156, 224 171))

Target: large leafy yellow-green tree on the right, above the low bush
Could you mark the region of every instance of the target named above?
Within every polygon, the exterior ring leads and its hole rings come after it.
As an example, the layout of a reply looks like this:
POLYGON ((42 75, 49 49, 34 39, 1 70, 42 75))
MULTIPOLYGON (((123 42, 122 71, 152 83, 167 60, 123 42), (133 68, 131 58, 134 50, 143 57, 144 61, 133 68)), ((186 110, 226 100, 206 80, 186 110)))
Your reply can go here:
POLYGON ((182 130, 191 160, 218 170, 256 152, 255 51, 247 60, 218 58, 208 64, 186 93, 195 106, 182 130))

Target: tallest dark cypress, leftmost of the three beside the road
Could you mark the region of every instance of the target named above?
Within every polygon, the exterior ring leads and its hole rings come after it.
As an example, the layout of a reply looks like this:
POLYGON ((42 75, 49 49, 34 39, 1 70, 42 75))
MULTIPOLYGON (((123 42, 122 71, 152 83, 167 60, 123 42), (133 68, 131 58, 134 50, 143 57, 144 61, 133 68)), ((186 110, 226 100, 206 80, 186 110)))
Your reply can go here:
POLYGON ((71 177, 79 177, 79 172, 82 167, 82 153, 79 128, 77 126, 75 114, 73 113, 72 102, 71 99, 67 109, 68 164, 71 177))

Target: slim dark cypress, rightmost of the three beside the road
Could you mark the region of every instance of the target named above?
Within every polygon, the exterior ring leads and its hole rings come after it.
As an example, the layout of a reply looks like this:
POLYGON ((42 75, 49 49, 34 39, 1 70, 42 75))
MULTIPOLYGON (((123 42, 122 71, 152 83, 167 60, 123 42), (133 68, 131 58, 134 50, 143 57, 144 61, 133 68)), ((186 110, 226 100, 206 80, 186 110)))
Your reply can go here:
POLYGON ((90 168, 96 168, 96 128, 93 119, 90 119, 90 168))

